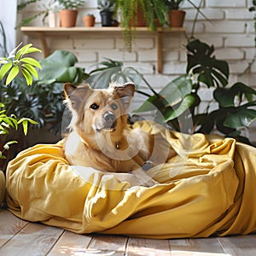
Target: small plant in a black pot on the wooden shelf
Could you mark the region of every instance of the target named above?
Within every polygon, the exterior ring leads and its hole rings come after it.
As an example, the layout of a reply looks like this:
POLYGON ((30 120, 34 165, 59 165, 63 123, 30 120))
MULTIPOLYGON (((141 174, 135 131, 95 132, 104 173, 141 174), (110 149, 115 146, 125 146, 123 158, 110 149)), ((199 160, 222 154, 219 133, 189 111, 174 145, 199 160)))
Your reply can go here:
POLYGON ((115 0, 98 0, 98 9, 100 9, 102 26, 112 26, 114 8, 115 0))

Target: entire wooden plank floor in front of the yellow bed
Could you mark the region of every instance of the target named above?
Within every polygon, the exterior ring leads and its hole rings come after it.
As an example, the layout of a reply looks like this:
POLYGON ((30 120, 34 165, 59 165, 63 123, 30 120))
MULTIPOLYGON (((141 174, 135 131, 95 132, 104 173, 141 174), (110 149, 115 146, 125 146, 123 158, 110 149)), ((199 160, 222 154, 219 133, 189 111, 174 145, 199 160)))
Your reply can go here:
POLYGON ((256 255, 256 235, 153 240, 77 235, 0 209, 0 255, 256 255))

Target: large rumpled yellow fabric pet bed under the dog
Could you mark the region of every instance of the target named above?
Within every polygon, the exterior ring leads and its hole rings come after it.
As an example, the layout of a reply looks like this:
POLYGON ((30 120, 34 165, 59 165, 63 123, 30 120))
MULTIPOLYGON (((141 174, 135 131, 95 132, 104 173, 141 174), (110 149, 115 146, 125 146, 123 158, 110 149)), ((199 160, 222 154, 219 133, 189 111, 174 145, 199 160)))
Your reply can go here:
POLYGON ((9 210, 80 234, 160 239, 255 232, 256 148, 232 138, 164 135, 177 156, 149 171, 158 182, 150 187, 136 183, 135 174, 69 166, 62 142, 28 148, 8 166, 9 210))

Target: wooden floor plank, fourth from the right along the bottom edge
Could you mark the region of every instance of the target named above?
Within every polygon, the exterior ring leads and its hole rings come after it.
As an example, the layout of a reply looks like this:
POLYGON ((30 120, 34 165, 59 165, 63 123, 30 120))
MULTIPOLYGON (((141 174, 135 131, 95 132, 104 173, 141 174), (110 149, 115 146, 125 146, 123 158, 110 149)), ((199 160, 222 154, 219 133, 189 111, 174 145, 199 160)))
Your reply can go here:
POLYGON ((127 240, 125 236, 94 235, 84 255, 124 256, 127 240))

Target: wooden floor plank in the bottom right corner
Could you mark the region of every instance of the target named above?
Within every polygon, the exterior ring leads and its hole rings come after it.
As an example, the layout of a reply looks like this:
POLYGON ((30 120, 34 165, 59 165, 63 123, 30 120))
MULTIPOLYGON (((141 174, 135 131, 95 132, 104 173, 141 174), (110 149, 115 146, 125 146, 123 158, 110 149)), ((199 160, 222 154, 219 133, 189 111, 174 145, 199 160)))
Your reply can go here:
POLYGON ((232 256, 255 256, 256 235, 219 237, 224 252, 232 256))

